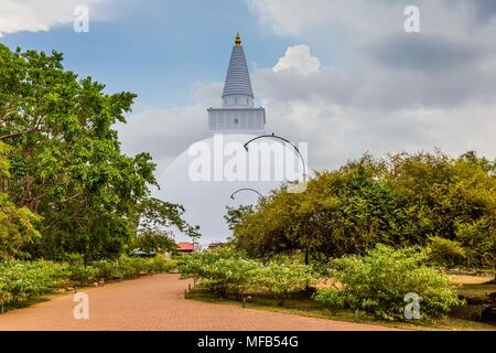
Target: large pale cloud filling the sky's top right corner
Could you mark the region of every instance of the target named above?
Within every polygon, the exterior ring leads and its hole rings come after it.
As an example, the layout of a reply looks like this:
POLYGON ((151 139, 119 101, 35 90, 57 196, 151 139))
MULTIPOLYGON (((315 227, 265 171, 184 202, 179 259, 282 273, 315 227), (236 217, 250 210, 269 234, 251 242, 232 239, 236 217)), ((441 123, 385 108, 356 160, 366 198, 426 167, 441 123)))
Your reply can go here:
MULTIPOLYGON (((496 47, 495 41, 487 41, 496 32, 493 2, 416 0, 420 9, 420 35, 496 47), (481 21, 477 13, 485 13, 487 19, 481 21)), ((304 42, 320 53, 322 62, 327 57, 321 54, 326 53, 330 60, 341 58, 343 65, 364 67, 368 66, 360 61, 364 49, 390 35, 407 35, 403 10, 412 1, 248 0, 248 3, 262 26, 304 42)))

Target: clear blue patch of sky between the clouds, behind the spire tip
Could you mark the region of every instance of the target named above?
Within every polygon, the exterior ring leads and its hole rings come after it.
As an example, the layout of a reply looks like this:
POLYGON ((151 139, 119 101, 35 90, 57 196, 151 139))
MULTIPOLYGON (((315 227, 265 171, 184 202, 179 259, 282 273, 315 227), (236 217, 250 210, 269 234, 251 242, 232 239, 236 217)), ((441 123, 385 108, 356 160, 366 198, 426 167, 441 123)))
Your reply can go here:
POLYGON ((110 20, 90 21, 89 33, 72 28, 12 33, 0 41, 12 49, 55 49, 64 53, 66 68, 93 76, 109 92, 134 92, 139 104, 161 108, 191 104, 197 81, 224 78, 237 31, 250 66, 274 65, 292 44, 291 38, 257 25, 245 1, 139 1, 116 8, 110 20))

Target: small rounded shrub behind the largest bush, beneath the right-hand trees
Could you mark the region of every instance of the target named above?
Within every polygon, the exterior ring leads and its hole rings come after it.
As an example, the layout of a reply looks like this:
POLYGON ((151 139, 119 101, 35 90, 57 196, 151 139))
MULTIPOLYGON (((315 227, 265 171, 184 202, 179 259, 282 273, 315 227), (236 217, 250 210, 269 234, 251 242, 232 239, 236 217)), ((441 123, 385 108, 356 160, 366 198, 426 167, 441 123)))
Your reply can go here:
POLYGON ((448 268, 462 264, 465 258, 465 250, 459 242, 439 236, 429 238, 428 254, 430 263, 448 268))

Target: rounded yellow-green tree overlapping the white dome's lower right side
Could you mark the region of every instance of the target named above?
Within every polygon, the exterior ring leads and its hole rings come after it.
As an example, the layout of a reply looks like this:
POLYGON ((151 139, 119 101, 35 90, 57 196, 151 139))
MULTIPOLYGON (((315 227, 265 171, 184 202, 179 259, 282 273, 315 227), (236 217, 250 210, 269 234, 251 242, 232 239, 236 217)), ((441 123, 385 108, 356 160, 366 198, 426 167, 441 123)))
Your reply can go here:
POLYGON ((317 173, 304 193, 283 185, 241 218, 234 233, 237 245, 255 256, 300 250, 322 261, 389 242, 398 200, 376 178, 382 168, 365 156, 338 171, 317 173))

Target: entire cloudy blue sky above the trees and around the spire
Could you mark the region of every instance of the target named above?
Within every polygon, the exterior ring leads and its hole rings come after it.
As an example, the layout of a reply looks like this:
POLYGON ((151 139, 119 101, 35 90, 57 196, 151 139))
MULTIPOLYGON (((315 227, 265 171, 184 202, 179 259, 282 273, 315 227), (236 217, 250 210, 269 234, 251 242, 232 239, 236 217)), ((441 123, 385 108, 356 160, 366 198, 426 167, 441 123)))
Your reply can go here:
POLYGON ((237 32, 267 131, 309 142, 313 170, 367 151, 496 158, 494 0, 0 0, 1 43, 56 50, 108 93, 138 94, 116 128, 159 175, 205 138, 237 32), (405 31, 408 6, 420 33, 405 31))

